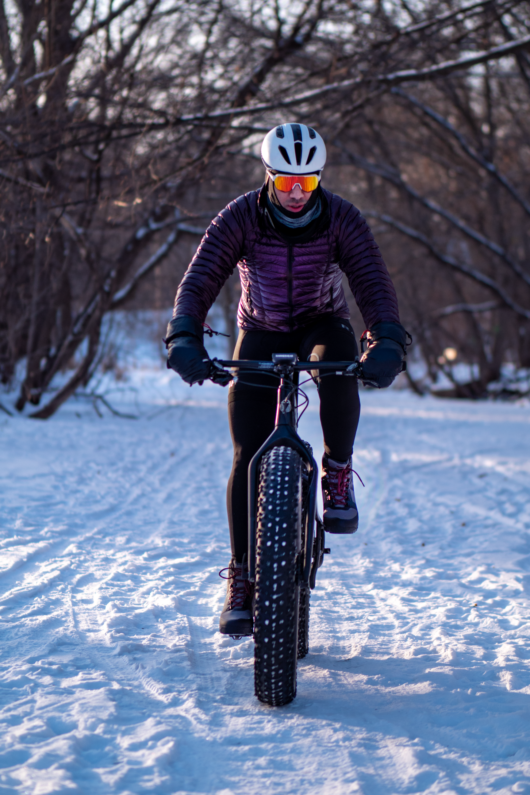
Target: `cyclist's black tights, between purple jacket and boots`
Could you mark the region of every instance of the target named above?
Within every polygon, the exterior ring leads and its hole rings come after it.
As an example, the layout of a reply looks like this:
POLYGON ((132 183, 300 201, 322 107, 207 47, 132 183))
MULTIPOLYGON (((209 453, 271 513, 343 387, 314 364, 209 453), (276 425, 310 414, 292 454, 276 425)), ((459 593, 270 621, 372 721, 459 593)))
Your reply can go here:
MULTIPOLYGON (((338 317, 327 316, 292 333, 239 332, 234 359, 270 362, 273 353, 296 353, 300 361, 308 361, 311 354, 319 361, 352 361, 358 355, 358 347, 350 323, 338 317)), ((240 380, 230 386, 228 394, 234 463, 226 506, 232 553, 237 560, 242 560, 248 549, 248 467, 254 453, 274 429, 277 384, 277 378, 265 374, 242 374, 240 380), (264 388, 265 385, 274 388, 264 388)), ((344 461, 351 456, 359 421, 357 379, 327 375, 320 382, 319 397, 324 450, 331 458, 344 461)))

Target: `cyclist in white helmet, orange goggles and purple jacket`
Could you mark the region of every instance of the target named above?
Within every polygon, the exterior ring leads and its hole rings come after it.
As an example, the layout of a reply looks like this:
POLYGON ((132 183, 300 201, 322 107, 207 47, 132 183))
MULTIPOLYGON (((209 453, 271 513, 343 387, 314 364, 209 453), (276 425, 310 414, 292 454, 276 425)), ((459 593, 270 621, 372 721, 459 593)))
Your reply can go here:
MULTIPOLYGON (((362 374, 389 386, 403 366, 406 332, 385 262, 356 207, 325 190, 326 146, 311 127, 274 127, 261 145, 265 184, 230 202, 210 226, 176 293, 166 343, 168 367, 189 384, 210 374, 203 323, 237 266, 242 285, 234 359, 269 360, 296 352, 301 361, 358 356, 342 289, 346 273, 366 324, 362 374)), ((323 522, 330 533, 358 528, 351 467, 360 405, 356 378, 317 379, 323 429, 323 522)), ((232 382, 228 416, 234 463, 227 489, 232 559, 219 628, 252 632, 252 586, 245 579, 247 471, 274 427, 277 383, 271 375, 232 382), (268 387, 273 386, 273 389, 268 387)))

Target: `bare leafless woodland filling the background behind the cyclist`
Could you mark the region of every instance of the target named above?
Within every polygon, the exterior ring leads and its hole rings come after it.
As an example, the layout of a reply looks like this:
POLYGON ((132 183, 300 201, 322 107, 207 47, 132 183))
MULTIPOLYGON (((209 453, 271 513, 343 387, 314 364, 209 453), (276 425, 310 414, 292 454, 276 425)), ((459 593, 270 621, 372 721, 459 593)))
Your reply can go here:
MULTIPOLYGON (((527 4, 17 10, 0 2, 0 377, 25 357, 18 409, 76 352, 33 416, 87 383, 105 312, 203 230, 213 184, 248 189, 257 141, 286 114, 327 135, 327 173, 346 195, 361 186, 354 198, 387 231, 403 320, 433 374, 449 343, 479 367, 469 394, 507 347, 528 363, 527 4)), ((235 298, 228 285, 227 316, 235 298)))

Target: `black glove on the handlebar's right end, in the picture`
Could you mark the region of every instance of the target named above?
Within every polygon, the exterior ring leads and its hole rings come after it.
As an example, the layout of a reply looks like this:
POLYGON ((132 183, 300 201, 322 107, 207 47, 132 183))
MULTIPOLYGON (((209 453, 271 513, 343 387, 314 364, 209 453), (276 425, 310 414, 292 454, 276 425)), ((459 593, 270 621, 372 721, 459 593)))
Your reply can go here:
MULTIPOLYGON (((362 381, 379 387, 390 386, 397 374, 405 369, 404 357, 407 355, 407 336, 400 323, 380 320, 362 335, 368 342, 368 349, 361 357, 362 381)), ((412 337, 410 337, 412 341, 412 337)), ((409 343, 410 344, 410 343, 409 343)))

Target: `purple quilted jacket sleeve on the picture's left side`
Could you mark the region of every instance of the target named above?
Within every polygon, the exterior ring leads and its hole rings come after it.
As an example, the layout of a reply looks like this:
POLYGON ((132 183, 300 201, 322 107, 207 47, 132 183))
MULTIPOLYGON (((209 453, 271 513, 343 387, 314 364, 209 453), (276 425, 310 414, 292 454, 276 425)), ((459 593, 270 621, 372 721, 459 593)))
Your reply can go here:
POLYGON ((246 196, 213 219, 176 291, 173 317, 190 315, 203 323, 211 304, 242 257, 246 196))

